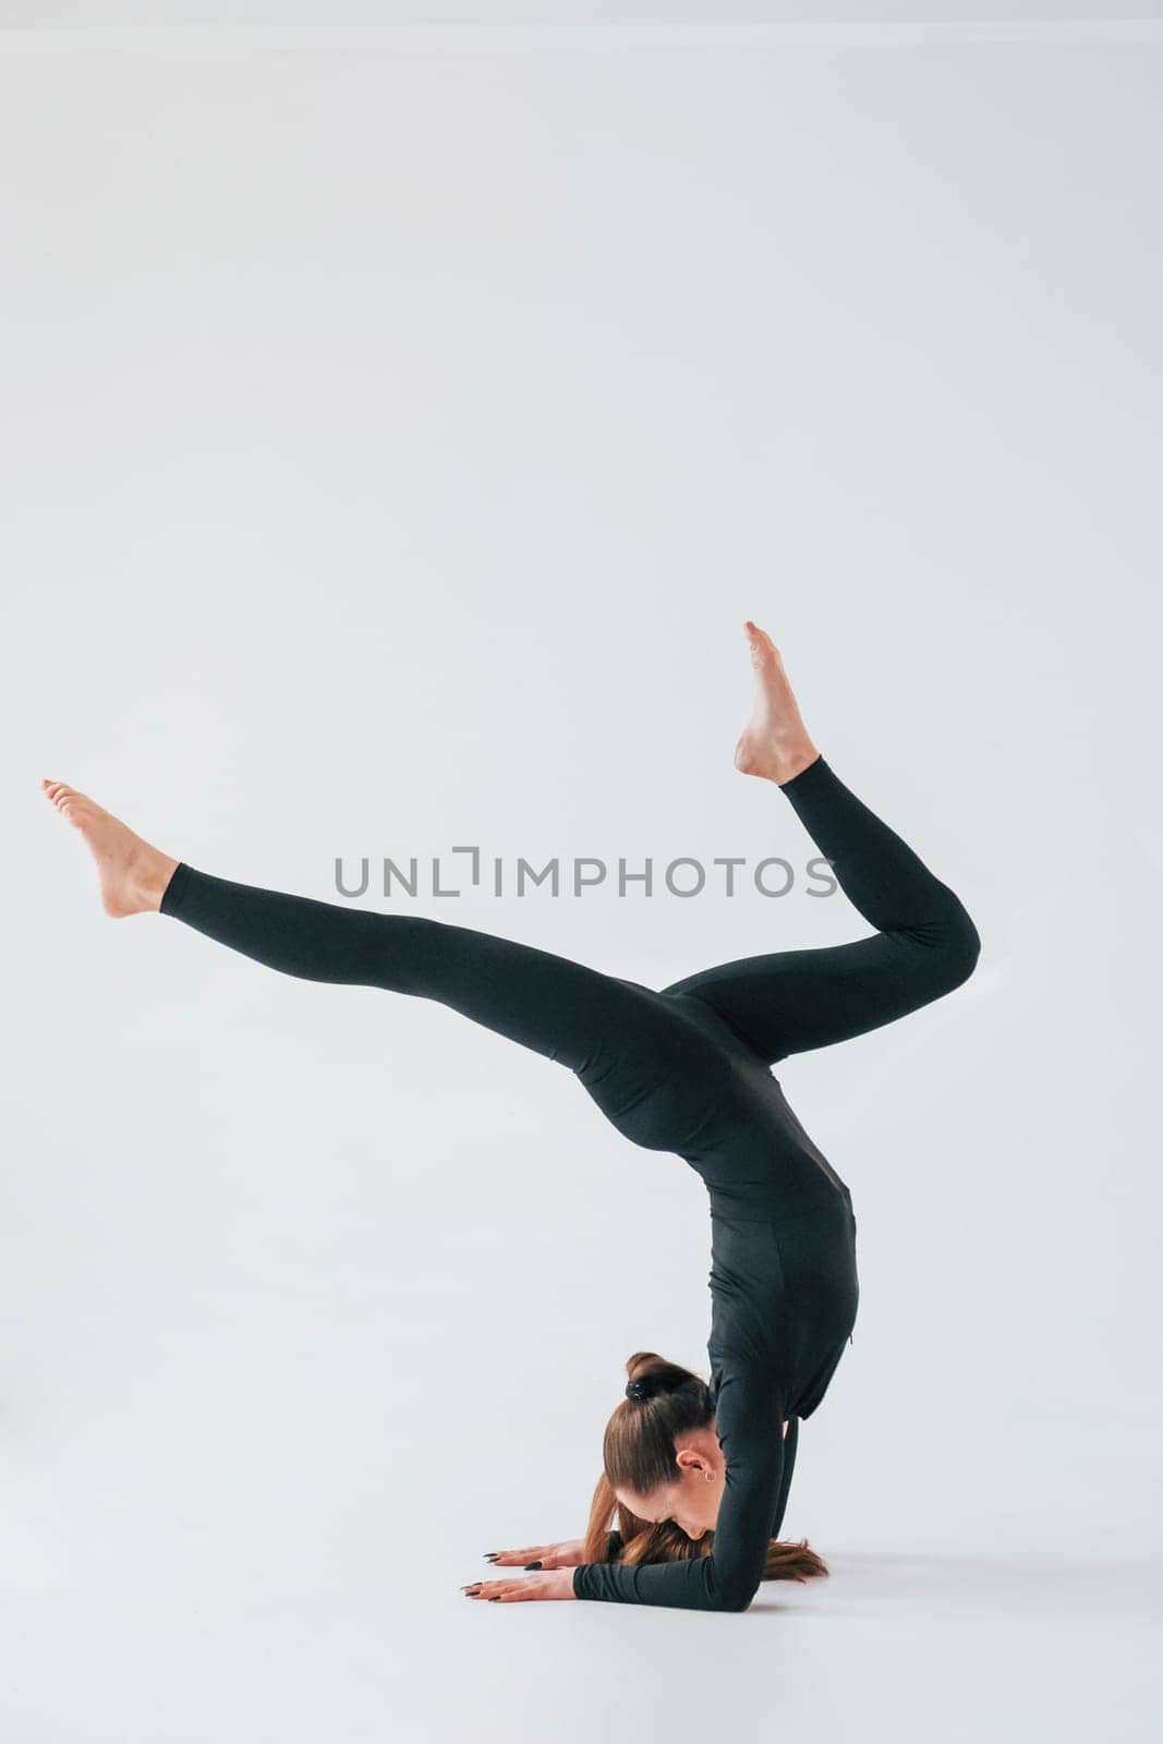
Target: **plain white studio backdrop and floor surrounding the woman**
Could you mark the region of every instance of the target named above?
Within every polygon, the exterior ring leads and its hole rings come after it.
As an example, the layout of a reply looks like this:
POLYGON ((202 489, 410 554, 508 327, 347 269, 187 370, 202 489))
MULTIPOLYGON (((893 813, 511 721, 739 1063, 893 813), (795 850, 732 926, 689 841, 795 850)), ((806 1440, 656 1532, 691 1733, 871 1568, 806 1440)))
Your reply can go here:
MULTIPOLYGON (((1161 89, 1149 35, 0 47, 5 1741, 1147 1735, 1161 89), (748 616, 983 937, 779 1073, 860 1221, 835 1573, 471 1604, 581 1531, 626 1355, 704 1366, 701 1182, 436 1006, 108 921, 38 780, 324 900, 802 865, 748 616)), ((652 985, 865 930, 633 889, 363 902, 652 985)))

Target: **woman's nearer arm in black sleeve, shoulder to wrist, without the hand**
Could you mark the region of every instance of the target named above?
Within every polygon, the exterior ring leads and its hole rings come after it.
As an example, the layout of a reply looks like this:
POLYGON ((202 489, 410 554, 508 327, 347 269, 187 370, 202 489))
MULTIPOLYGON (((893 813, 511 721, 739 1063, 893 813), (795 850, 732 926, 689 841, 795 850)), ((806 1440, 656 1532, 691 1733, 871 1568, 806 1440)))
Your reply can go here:
POLYGON ((715 1425, 727 1472, 711 1554, 682 1563, 582 1563, 574 1570, 574 1598, 745 1611, 764 1578, 771 1524, 786 1495, 783 1423, 771 1374, 745 1367, 724 1374, 715 1425))

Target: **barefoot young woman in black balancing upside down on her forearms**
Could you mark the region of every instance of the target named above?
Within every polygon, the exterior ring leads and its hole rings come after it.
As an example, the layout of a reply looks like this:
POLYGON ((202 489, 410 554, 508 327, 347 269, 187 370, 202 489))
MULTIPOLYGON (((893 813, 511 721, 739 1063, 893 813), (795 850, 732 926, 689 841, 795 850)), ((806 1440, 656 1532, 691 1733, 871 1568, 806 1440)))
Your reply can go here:
POLYGON ((284 975, 438 999, 565 1066, 626 1139, 675 1151, 706 1182, 710 1386, 635 1353, 588 1536, 490 1552, 534 1571, 473 1582, 471 1598, 741 1611, 764 1578, 825 1573, 806 1543, 778 1535, 799 1420, 825 1397, 856 1318, 856 1219, 771 1067, 950 992, 980 940, 952 889, 820 755, 771 638, 752 623, 746 633, 757 701, 736 767, 781 788, 875 931, 725 963, 661 992, 443 921, 234 884, 152 848, 63 781, 42 783, 98 862, 106 914, 160 912, 284 975))

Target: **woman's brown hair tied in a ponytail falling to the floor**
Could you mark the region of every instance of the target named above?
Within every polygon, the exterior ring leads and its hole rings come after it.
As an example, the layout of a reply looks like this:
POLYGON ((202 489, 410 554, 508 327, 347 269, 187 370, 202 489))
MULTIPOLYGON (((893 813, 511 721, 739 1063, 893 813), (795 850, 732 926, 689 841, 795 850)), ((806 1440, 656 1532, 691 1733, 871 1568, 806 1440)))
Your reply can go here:
MULTIPOLYGON (((645 1397, 622 1399, 605 1425, 602 1439, 603 1472, 593 1493, 589 1526, 586 1529, 584 1563, 680 1563, 685 1557, 710 1556, 715 1533, 687 1538, 673 1521, 643 1521, 614 1495, 621 1484, 640 1496, 649 1496, 659 1484, 673 1484, 678 1477, 675 1441, 692 1428, 710 1428, 715 1421, 715 1400, 697 1374, 678 1362, 666 1362, 652 1350, 636 1350, 626 1364, 629 1381, 643 1381, 645 1397), (610 1543, 610 1526, 616 1526, 621 1545, 610 1543)), ((826 1575, 826 1563, 816 1556, 806 1538, 788 1543, 772 1538, 767 1545, 764 1580, 811 1580, 826 1575)))

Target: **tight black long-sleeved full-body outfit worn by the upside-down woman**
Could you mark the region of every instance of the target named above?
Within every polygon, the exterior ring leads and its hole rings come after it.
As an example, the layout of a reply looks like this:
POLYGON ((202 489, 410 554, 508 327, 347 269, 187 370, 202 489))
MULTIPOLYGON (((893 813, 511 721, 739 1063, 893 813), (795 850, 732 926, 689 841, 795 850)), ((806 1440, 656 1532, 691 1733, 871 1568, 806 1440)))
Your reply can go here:
POLYGON ((581 1599, 750 1604, 779 1533, 799 1418, 821 1402, 858 1299, 851 1193, 771 1066, 915 1012, 964 982, 980 950, 954 891, 823 757, 781 792, 875 933, 725 963, 661 992, 492 933, 234 884, 185 862, 160 903, 284 975, 462 1012, 568 1067, 624 1137, 675 1151, 706 1182, 725 1460, 713 1549, 682 1563, 588 1563, 574 1570, 581 1599))

